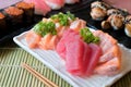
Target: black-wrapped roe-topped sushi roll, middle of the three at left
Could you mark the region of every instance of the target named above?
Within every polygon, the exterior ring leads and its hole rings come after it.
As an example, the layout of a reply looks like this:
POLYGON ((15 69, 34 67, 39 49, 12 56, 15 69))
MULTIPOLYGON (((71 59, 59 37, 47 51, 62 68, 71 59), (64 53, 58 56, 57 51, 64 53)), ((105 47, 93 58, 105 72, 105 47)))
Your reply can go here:
POLYGON ((22 24, 23 13, 24 13, 23 10, 20 10, 15 7, 9 7, 9 8, 4 9, 3 13, 7 16, 7 22, 9 24, 9 27, 13 26, 13 25, 22 24))

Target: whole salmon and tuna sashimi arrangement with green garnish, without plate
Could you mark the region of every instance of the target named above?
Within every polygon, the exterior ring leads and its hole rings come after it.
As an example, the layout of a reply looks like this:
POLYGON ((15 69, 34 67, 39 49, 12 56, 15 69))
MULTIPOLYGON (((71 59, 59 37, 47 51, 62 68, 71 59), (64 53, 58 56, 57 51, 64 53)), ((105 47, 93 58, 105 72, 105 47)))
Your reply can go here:
POLYGON ((85 21, 71 13, 43 18, 25 39, 29 48, 57 51, 72 75, 115 75, 121 67, 117 40, 102 30, 90 30, 85 21))

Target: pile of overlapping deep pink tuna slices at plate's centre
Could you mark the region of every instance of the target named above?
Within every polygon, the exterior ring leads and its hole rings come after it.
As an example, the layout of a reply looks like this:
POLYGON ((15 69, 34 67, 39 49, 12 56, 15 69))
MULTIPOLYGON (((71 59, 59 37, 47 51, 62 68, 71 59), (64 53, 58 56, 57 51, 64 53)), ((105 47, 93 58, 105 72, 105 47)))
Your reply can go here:
POLYGON ((102 49, 95 44, 87 45, 78 33, 68 29, 57 45, 57 52, 66 60, 69 73, 90 76, 98 63, 102 49))

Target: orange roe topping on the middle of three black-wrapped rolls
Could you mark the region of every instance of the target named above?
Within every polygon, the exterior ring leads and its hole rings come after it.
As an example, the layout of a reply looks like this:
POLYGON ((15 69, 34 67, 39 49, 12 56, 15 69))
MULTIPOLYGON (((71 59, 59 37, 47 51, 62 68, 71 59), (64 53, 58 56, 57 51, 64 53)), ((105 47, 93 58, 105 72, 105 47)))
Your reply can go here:
POLYGON ((9 7, 8 9, 4 10, 8 14, 10 15, 20 15, 23 13, 23 10, 20 10, 15 7, 9 7))

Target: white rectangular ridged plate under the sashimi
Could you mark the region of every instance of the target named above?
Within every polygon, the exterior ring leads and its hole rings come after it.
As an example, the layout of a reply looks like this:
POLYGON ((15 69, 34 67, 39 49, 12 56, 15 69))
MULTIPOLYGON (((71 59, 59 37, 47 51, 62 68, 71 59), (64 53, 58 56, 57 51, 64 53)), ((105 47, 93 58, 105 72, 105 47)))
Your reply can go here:
POLYGON ((120 50, 122 51, 122 67, 119 74, 115 76, 99 76, 92 75, 91 77, 78 77, 70 75, 64 67, 63 61, 55 51, 46 51, 41 49, 29 49, 25 41, 25 33, 16 36, 13 40, 22 47, 24 50, 29 52, 36 59, 41 61, 45 65, 60 75, 64 80, 71 84, 73 87, 107 87, 111 86, 115 82, 121 78, 124 74, 131 71, 131 50, 124 48, 122 45, 119 45, 120 50))

